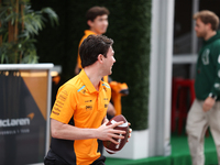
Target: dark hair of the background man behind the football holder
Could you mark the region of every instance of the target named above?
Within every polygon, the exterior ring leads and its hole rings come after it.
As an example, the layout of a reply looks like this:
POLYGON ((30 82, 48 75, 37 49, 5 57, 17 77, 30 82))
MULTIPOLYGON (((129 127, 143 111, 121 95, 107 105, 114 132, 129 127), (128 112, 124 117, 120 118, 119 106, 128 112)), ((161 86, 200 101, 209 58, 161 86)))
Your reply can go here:
POLYGON ((97 16, 101 16, 103 14, 109 15, 109 10, 105 7, 92 7, 86 13, 86 21, 94 21, 97 16))

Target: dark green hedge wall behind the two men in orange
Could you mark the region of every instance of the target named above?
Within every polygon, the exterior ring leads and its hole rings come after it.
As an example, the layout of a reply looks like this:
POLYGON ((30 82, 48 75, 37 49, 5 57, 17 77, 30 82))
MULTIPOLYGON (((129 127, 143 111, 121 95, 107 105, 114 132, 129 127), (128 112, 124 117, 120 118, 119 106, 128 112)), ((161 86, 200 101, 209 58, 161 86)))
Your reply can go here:
POLYGON ((94 6, 110 11, 105 34, 114 40, 117 63, 113 80, 127 82, 130 94, 122 97, 122 113, 133 130, 147 128, 151 0, 32 0, 34 9, 51 7, 59 25, 47 25, 36 44, 40 62, 63 66, 63 82, 74 76, 78 43, 87 29, 85 13, 94 6))

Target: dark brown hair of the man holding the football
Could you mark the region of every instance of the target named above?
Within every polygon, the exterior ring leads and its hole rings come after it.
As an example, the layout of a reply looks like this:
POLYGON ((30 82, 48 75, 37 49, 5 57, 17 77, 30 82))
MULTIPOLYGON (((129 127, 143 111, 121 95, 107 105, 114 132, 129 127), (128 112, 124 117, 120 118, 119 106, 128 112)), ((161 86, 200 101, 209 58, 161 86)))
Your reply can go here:
POLYGON ((81 67, 85 68, 86 66, 92 65, 98 59, 99 54, 107 57, 109 47, 112 44, 113 40, 105 35, 89 35, 79 47, 81 67))

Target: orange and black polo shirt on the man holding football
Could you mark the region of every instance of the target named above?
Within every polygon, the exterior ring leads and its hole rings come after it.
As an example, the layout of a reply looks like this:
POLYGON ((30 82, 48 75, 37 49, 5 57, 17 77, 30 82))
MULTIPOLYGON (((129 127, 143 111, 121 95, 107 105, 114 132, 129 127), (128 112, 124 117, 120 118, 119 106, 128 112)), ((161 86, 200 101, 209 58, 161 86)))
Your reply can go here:
MULTIPOLYGON (((97 91, 82 69, 58 89, 51 118, 77 128, 97 129, 107 114, 110 97, 110 86, 100 81, 97 91)), ((89 165, 100 157, 97 139, 52 138, 51 150, 70 165, 89 165)))

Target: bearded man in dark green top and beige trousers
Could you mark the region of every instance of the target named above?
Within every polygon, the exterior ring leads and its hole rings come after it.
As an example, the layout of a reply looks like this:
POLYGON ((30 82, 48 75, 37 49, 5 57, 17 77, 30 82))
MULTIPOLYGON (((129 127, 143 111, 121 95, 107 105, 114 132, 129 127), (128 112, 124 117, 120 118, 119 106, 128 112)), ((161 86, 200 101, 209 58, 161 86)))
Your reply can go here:
POLYGON ((187 117, 186 131, 193 165, 204 165, 204 138, 210 128, 220 164, 220 32, 219 18, 204 10, 194 15, 195 31, 204 38, 199 51, 195 92, 196 99, 187 117))

